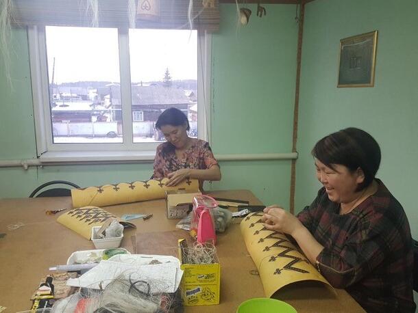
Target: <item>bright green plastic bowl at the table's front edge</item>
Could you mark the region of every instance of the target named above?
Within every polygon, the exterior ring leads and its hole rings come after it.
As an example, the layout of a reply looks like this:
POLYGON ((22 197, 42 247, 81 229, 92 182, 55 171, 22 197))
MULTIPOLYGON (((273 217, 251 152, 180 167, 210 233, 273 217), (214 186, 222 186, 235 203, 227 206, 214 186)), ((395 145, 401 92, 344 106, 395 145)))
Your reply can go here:
POLYGON ((280 300, 254 298, 241 303, 236 313, 297 313, 297 311, 292 305, 280 300))

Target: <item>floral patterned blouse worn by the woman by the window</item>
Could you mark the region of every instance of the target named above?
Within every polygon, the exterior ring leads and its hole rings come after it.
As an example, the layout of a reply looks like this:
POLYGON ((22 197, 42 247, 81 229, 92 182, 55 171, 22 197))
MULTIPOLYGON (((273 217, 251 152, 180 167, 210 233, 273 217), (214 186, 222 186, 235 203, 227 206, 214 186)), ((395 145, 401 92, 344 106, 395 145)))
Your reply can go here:
POLYGON ((178 169, 209 169, 218 164, 212 149, 204 140, 193 139, 193 144, 184 153, 186 154, 184 159, 177 159, 173 146, 169 142, 160 144, 157 147, 151 178, 164 178, 178 169))

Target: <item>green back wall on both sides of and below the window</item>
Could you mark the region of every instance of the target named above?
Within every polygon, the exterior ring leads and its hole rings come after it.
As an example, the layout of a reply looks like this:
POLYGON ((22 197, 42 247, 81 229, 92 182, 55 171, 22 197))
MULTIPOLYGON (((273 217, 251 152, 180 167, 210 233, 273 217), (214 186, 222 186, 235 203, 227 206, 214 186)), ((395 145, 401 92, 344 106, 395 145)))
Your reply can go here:
MULTIPOLYGON (((294 5, 265 5, 236 28, 236 6, 221 5, 221 29, 212 36, 212 148, 215 154, 291 152, 297 49, 294 5)), ((13 31, 14 92, 0 71, 0 159, 36 157, 27 36, 13 31)), ((265 204, 287 205, 291 161, 221 162, 221 182, 206 189, 250 189, 265 204)), ((0 198, 27 197, 42 182, 80 186, 143 180, 151 163, 0 168, 0 198)))

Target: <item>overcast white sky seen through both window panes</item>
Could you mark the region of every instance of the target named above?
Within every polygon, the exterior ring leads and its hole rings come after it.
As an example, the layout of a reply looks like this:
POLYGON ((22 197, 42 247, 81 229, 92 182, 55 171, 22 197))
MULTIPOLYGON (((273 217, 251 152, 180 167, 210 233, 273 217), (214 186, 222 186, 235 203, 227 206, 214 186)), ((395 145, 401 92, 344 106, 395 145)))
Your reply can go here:
MULTIPOLYGON (((55 57, 54 83, 119 82, 117 29, 47 27, 49 81, 55 57)), ((130 29, 133 83, 197 79, 197 31, 130 29)))

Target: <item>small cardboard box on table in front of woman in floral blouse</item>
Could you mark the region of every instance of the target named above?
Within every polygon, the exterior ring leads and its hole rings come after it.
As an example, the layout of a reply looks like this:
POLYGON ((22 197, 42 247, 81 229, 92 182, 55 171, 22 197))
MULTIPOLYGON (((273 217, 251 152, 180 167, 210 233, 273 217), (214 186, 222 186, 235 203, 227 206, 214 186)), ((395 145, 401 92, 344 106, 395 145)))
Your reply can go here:
POLYGON ((187 216, 193 204, 195 195, 201 195, 201 192, 178 193, 173 191, 166 192, 167 198, 167 218, 182 219, 187 216))

